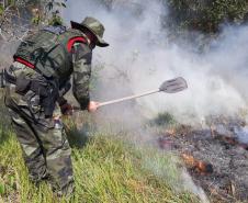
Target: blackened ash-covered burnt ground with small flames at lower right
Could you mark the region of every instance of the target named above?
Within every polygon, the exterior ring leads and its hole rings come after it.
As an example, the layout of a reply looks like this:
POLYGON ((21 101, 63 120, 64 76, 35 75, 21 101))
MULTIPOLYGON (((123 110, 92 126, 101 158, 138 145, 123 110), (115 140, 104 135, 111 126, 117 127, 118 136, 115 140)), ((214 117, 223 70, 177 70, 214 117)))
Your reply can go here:
POLYGON ((204 129, 180 125, 160 136, 158 145, 194 159, 184 160, 185 167, 212 202, 248 202, 247 128, 241 120, 219 119, 204 129), (202 169, 203 163, 210 170, 202 169))

